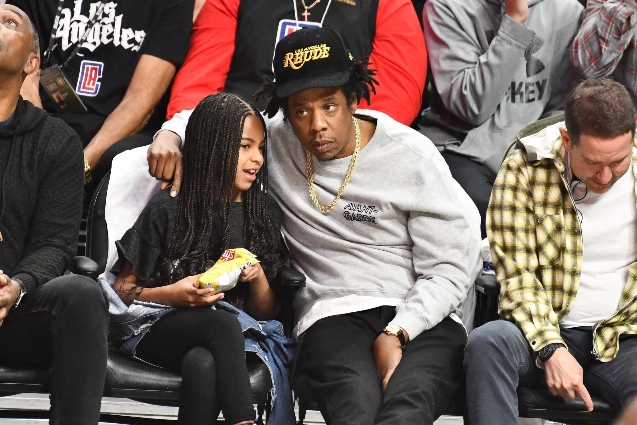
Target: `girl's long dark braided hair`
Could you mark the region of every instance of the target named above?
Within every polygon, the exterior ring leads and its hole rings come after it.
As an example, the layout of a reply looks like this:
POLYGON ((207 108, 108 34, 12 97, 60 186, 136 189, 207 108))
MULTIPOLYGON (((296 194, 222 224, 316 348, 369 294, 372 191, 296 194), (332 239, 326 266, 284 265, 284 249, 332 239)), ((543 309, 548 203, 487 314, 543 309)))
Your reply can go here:
MULTIPOLYGON (((173 284, 208 270, 226 249, 230 240, 230 206, 243 126, 254 115, 266 125, 259 110, 240 97, 216 93, 203 99, 186 127, 183 151, 183 183, 175 217, 175 230, 165 254, 157 262, 157 273, 144 287, 173 284), (218 206, 218 208, 215 208, 218 206), (220 216, 221 240, 215 234, 215 215, 220 216)), ((267 134, 264 133, 267 143, 267 134)), ((266 152, 256 180, 245 191, 245 247, 259 257, 267 278, 276 274, 273 252, 279 234, 268 210, 268 168, 266 152)), ((243 308, 248 285, 237 285, 226 293, 224 301, 243 308)))

